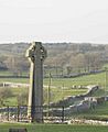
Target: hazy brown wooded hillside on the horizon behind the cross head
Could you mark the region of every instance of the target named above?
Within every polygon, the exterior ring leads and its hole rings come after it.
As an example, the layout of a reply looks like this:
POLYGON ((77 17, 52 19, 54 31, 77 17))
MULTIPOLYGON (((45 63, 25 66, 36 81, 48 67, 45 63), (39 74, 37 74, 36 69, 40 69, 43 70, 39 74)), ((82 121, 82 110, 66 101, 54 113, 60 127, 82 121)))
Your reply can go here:
MULTIPOLYGON (((25 51, 29 43, 0 44, 0 67, 17 70, 29 67, 25 51), (24 63, 23 63, 24 62, 24 63), (24 65, 25 64, 25 65, 24 65), (12 68, 13 67, 13 68, 12 68)), ((45 66, 57 67, 57 70, 66 70, 67 74, 90 72, 100 69, 108 62, 108 46, 90 43, 43 43, 47 51, 45 66)))

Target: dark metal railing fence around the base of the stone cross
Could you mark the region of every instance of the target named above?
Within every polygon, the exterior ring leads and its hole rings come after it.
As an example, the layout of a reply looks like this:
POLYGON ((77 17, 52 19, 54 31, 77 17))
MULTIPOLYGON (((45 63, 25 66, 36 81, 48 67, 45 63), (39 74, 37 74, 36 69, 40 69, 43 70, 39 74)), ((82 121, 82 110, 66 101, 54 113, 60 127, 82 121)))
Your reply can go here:
MULTIPOLYGON (((48 107, 48 106, 37 106, 35 109, 43 109, 42 120, 43 122, 55 122, 64 123, 69 120, 68 116, 65 116, 64 107, 48 107)), ((31 122, 31 117, 28 110, 31 107, 28 106, 7 106, 0 108, 0 122, 31 122)), ((40 111, 39 111, 40 112, 40 111)), ((37 114, 37 113, 36 113, 37 114)))

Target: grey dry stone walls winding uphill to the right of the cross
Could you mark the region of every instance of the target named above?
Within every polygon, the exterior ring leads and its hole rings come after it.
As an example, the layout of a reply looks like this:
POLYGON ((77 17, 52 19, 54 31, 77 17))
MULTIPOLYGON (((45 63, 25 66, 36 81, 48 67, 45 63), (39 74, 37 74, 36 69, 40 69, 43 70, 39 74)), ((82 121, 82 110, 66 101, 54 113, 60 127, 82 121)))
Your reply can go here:
MULTIPOLYGON (((90 95, 93 92, 95 92, 99 87, 98 86, 88 86, 88 91, 85 95, 78 95, 78 96, 72 96, 68 97, 65 100, 58 101, 57 103, 51 103, 52 107, 57 107, 57 106, 62 106, 65 103, 71 103, 75 100, 82 100, 78 105, 72 105, 72 106, 64 106, 64 116, 71 116, 74 112, 83 112, 83 111, 87 111, 90 108, 95 109, 95 107, 98 103, 98 100, 104 100, 104 97, 98 98, 94 98, 90 97, 90 95)), ((63 109, 53 109, 51 110, 51 114, 53 116, 57 116, 61 117, 63 114, 63 109)))

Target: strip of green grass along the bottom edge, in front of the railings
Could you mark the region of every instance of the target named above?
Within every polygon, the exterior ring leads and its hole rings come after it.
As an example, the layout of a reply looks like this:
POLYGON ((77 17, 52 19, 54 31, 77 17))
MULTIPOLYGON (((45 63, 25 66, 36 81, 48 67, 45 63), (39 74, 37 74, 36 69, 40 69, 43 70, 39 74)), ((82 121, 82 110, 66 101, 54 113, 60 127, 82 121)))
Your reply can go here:
POLYGON ((0 124, 0 132, 8 132, 10 128, 26 128, 28 132, 107 132, 104 125, 66 125, 66 124, 0 124))

